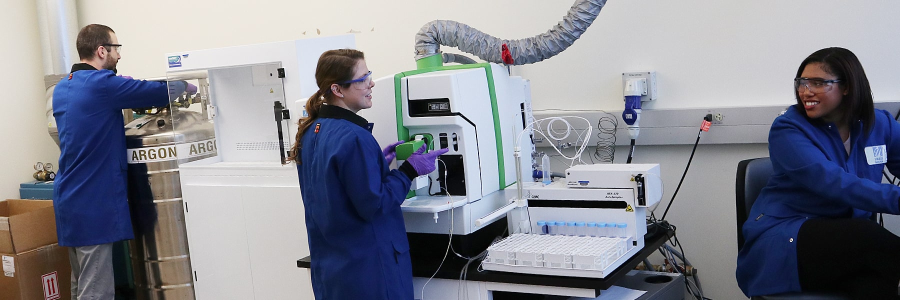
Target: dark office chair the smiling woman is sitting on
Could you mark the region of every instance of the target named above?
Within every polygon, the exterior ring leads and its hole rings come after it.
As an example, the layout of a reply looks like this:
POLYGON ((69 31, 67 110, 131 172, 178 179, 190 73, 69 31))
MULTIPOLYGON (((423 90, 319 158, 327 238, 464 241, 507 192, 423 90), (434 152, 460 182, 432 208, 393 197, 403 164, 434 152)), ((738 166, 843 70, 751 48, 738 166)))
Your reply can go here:
MULTIPOLYGON (((737 164, 737 178, 735 185, 735 207, 737 208, 737 250, 743 248, 743 223, 750 215, 750 208, 756 202, 756 197, 766 186, 772 175, 772 162, 769 158, 745 159, 737 164)), ((848 300, 850 297, 842 294, 829 294, 817 292, 784 293, 778 295, 757 295, 752 300, 848 300)))

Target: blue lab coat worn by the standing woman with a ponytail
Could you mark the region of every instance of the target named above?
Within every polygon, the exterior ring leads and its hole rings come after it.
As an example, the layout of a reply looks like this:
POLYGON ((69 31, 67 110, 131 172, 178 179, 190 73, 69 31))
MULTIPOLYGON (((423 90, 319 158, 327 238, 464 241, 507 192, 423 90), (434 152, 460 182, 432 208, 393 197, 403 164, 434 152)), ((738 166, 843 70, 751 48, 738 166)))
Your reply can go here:
POLYGON ((410 177, 388 169, 365 119, 322 105, 297 171, 316 299, 412 299, 400 205, 410 177))

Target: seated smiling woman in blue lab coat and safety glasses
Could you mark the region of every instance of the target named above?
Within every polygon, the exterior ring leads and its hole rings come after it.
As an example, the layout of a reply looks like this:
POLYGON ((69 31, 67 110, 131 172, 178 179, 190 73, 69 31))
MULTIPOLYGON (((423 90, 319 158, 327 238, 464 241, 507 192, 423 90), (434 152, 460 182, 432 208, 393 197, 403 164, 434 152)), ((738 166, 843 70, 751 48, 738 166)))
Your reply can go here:
POLYGON ((743 225, 743 293, 840 291, 897 299, 900 237, 873 214, 900 214, 900 124, 874 109, 869 79, 850 50, 815 51, 794 78, 797 105, 775 119, 775 173, 743 225))

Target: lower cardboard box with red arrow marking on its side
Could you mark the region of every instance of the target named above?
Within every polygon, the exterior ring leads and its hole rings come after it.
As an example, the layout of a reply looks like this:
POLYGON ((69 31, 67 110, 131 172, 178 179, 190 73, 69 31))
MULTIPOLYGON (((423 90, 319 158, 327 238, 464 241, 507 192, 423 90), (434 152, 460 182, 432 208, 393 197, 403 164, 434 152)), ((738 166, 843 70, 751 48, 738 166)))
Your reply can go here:
POLYGON ((0 300, 71 299, 68 248, 51 244, 19 254, 0 254, 0 300))

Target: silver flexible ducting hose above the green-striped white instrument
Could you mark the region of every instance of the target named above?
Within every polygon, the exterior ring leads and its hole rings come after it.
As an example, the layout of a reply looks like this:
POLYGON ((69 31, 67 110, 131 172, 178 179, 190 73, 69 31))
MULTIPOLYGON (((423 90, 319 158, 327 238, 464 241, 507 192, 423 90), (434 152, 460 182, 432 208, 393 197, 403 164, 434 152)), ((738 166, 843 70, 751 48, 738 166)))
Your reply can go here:
POLYGON ((468 53, 494 63, 502 64, 500 47, 507 44, 514 62, 524 65, 549 59, 559 54, 588 29, 607 0, 578 0, 549 31, 532 38, 500 40, 478 31, 464 23, 436 20, 422 26, 416 33, 416 60, 440 53, 440 45, 458 47, 468 53))

